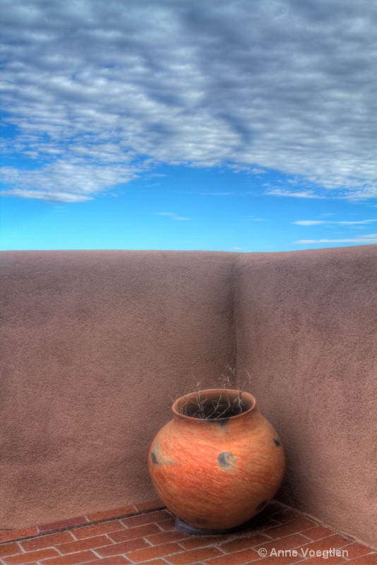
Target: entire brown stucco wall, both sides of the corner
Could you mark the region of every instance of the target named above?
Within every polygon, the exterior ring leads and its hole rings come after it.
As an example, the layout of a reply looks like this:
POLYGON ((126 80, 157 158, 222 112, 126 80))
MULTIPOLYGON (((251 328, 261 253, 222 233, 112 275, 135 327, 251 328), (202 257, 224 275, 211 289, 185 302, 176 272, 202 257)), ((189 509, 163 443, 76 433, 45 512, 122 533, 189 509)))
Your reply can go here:
POLYGON ((376 251, 1 252, 0 528, 153 498, 169 397, 237 359, 280 499, 376 546, 376 251))

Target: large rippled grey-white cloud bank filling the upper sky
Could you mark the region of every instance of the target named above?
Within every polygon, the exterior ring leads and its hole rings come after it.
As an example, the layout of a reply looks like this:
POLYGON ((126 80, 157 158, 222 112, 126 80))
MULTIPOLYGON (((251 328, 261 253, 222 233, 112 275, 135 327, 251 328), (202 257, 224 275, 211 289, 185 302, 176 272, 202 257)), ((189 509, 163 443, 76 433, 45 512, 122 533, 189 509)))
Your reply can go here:
POLYGON ((370 0, 0 8, 1 107, 17 132, 2 147, 33 162, 3 169, 3 194, 82 200, 166 162, 313 184, 273 196, 376 196, 370 0))

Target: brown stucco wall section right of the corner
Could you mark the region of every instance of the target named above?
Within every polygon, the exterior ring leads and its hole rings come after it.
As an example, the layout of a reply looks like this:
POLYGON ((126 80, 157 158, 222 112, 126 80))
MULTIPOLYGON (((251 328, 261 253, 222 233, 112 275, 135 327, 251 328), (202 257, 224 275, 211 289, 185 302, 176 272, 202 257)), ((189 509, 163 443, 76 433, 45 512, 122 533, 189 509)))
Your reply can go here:
POLYGON ((282 438, 279 498, 377 547, 377 248, 241 254, 237 369, 282 438))

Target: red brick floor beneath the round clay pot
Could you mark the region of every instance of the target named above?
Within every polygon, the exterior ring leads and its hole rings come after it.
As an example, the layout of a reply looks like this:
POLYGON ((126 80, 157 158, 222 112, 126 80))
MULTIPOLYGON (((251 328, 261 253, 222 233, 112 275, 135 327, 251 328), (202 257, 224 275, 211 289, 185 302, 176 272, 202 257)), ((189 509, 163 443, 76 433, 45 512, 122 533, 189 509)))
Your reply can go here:
POLYGON ((160 501, 0 532, 1 565, 297 563, 377 565, 377 552, 276 501, 229 535, 179 533, 160 501))

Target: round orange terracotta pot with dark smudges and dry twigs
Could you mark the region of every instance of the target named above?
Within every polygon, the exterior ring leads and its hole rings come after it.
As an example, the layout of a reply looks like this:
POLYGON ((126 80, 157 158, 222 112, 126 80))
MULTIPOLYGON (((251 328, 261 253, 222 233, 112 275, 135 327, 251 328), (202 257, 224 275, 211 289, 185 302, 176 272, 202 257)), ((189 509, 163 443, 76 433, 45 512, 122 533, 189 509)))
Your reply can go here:
MULTIPOLYGON (((201 404, 214 405, 220 393, 237 404, 239 391, 224 389, 201 391, 201 404)), ((207 420, 184 410, 196 398, 191 393, 176 400, 173 419, 155 436, 152 482, 167 508, 194 528, 235 528, 263 510, 280 487, 282 442, 251 394, 241 393, 241 413, 228 410, 207 420)))

